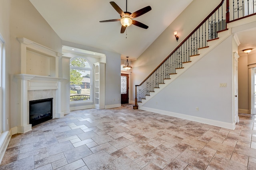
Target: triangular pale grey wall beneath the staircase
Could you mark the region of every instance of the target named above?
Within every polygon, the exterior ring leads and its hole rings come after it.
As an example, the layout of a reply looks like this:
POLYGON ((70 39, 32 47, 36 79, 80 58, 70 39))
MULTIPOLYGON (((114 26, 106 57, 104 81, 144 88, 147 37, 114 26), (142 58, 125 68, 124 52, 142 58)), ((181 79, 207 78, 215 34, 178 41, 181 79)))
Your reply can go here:
POLYGON ((164 88, 144 107, 232 122, 232 36, 164 88), (227 83, 227 87, 219 87, 227 83), (196 107, 199 111, 196 111, 196 107))

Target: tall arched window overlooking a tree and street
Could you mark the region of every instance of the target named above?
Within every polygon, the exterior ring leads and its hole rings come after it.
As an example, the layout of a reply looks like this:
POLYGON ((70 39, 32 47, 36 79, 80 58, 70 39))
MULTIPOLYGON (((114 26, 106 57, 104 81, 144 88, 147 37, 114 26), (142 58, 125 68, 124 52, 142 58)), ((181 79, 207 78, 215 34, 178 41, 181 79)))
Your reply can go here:
POLYGON ((84 57, 70 61, 70 102, 92 101, 92 66, 84 57))

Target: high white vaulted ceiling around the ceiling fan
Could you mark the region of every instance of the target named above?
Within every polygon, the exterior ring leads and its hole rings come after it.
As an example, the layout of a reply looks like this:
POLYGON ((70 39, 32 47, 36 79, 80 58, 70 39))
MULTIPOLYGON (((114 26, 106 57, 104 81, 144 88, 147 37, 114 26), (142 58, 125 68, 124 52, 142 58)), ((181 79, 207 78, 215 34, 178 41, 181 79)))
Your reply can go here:
MULTIPOLYGON (((120 33, 119 21, 99 22, 120 18, 108 0, 30 2, 62 40, 119 53, 122 58, 129 56, 130 59, 136 59, 192 0, 127 0, 128 12, 133 13, 146 6, 151 6, 152 10, 134 18, 148 25, 148 29, 131 25, 123 34, 120 33)), ((126 11, 126 0, 114 2, 126 11)))

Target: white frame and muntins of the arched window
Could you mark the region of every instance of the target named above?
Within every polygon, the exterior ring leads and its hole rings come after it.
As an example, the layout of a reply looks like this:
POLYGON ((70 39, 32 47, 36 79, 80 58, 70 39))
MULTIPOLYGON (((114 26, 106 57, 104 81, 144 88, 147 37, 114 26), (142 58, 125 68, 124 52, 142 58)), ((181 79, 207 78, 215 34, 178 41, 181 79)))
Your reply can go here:
MULTIPOLYGON (((86 71, 90 71, 90 100, 78 100, 78 101, 70 101, 70 104, 81 104, 81 103, 93 103, 93 87, 94 87, 94 85, 92 84, 92 80, 93 80, 93 68, 92 68, 92 64, 91 64, 91 62, 86 58, 86 57, 84 57, 84 56, 77 56, 77 57, 74 57, 74 58, 72 58, 72 59, 70 59, 70 63, 73 61, 73 60, 75 60, 75 59, 78 59, 78 58, 82 58, 82 59, 85 59, 87 62, 88 62, 88 64, 89 64, 89 66, 90 66, 90 68, 88 68, 88 67, 78 67, 78 66, 72 66, 71 64, 70 64, 70 70, 71 69, 75 69, 75 70, 86 70, 86 71)), ((70 86, 70 82, 69 82, 69 86, 70 86)), ((70 96, 70 95, 69 95, 70 96)))

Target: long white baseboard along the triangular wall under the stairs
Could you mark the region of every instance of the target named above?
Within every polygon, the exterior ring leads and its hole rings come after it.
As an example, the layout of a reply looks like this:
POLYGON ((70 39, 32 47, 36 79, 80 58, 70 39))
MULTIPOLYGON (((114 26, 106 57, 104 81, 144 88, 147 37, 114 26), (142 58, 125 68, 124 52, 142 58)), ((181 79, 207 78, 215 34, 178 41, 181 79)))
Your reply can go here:
POLYGON ((226 122, 206 119, 206 118, 202 118, 202 117, 184 115, 184 114, 181 114, 181 113, 174 113, 174 112, 171 112, 171 111, 152 109, 152 108, 143 107, 143 106, 140 106, 139 109, 145 110, 145 111, 151 111, 151 112, 154 112, 154 113, 159 113, 159 114, 162 114, 162 115, 178 117, 178 118, 186 119, 186 120, 190 120, 190 121, 196 121, 196 122, 199 122, 199 123, 205 123, 205 124, 208 124, 208 125, 223 127, 223 128, 226 128, 226 129, 233 129, 234 130, 235 127, 236 127, 235 123, 226 123, 226 122))

